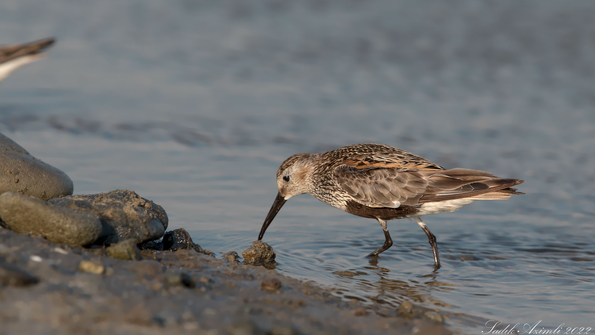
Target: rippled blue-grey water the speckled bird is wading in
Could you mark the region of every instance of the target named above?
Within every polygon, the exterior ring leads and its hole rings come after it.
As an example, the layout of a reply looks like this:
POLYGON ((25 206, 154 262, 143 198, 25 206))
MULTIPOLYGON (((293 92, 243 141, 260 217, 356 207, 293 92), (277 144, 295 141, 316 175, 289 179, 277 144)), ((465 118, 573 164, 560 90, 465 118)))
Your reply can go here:
POLYGON ((424 217, 427 237, 309 196, 264 240, 277 269, 453 329, 594 327, 595 5, 588 1, 96 1, 0 5, 0 42, 57 36, 0 83, 0 131, 75 193, 128 188, 205 249, 242 252, 298 152, 378 142, 526 194, 424 217), (350 271, 337 272, 337 271, 350 271), (336 273, 333 273, 336 272, 336 273))

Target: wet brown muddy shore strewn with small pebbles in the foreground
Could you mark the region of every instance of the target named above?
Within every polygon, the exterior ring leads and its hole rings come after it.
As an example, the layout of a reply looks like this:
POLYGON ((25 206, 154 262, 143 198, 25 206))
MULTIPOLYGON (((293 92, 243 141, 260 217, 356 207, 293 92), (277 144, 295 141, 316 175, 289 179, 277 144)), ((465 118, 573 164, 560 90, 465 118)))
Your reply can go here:
POLYGON ((105 248, 0 229, 0 269, 18 268, 38 280, 0 286, 0 333, 450 333, 428 320, 380 317, 315 284, 233 257, 193 249, 140 253, 137 261, 118 260, 105 248))

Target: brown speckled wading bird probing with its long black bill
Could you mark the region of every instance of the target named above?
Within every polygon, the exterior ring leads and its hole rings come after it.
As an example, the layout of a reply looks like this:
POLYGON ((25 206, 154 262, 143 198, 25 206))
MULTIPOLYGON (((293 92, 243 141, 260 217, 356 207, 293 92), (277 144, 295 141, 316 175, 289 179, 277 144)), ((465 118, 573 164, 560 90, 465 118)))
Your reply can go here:
POLYGON ((381 144, 348 145, 324 154, 295 154, 277 170, 279 193, 258 240, 285 201, 307 193, 347 213, 380 222, 386 240, 369 256, 378 256, 393 245, 387 220, 414 218, 428 235, 438 269, 436 237, 420 216, 452 212, 475 200, 523 194, 511 188, 521 182, 480 170, 446 170, 423 157, 381 144))

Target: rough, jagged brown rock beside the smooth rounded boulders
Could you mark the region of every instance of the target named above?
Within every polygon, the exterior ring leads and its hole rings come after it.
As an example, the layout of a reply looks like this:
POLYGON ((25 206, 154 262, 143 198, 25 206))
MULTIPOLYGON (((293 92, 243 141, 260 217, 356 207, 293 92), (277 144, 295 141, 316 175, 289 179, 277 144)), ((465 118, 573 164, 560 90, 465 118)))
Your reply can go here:
POLYGON ((49 202, 96 215, 102 224, 96 244, 118 243, 129 238, 136 243, 155 240, 163 236, 168 224, 161 206, 129 190, 53 198, 49 202))

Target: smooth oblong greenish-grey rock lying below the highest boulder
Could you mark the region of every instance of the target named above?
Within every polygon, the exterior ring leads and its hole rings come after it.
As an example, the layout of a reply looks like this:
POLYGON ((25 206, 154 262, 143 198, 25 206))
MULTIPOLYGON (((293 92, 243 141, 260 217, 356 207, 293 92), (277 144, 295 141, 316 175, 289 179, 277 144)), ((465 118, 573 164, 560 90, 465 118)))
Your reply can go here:
POLYGON ((101 233, 101 222, 91 213, 77 213, 17 192, 0 195, 0 217, 15 232, 42 235, 55 243, 84 246, 101 233))

